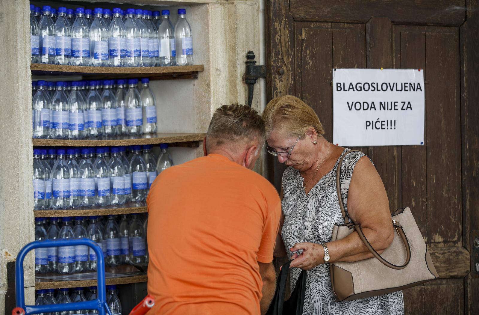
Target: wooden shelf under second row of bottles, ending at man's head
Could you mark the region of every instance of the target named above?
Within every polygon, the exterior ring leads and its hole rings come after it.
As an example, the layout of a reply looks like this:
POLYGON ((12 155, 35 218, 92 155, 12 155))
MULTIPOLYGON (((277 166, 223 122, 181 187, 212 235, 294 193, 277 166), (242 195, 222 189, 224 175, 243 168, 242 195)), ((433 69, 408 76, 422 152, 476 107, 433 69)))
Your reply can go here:
POLYGON ((204 133, 157 133, 137 136, 116 136, 97 140, 32 139, 34 146, 104 147, 168 143, 171 147, 195 148, 205 138, 204 133))

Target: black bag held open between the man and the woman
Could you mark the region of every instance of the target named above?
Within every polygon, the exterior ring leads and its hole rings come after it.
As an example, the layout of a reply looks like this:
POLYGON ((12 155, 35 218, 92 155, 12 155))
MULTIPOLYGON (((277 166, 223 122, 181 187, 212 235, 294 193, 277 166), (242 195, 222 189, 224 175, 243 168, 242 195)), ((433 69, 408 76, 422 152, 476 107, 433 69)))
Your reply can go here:
POLYGON ((291 260, 281 267, 278 280, 276 281, 276 292, 273 301, 266 312, 266 315, 302 315, 304 298, 306 294, 306 271, 301 274, 296 282, 295 290, 291 293, 289 300, 285 301, 286 280, 288 278, 289 264, 291 260))

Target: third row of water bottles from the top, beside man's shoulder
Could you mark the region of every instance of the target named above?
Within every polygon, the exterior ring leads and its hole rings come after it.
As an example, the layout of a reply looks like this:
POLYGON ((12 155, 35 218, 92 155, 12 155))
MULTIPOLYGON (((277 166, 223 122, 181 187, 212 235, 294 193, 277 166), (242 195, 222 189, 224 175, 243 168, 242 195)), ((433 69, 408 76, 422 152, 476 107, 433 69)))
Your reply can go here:
POLYGON ((34 149, 34 210, 142 206, 156 176, 173 165, 168 144, 34 149))

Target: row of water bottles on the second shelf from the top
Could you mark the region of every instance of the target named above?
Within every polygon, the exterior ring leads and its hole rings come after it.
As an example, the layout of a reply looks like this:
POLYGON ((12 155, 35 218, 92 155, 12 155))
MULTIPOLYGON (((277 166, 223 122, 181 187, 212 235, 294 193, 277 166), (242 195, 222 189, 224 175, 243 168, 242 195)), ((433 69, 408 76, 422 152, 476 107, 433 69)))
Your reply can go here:
POLYGON ((33 138, 115 139, 157 132, 149 79, 32 82, 33 138), (128 84, 126 84, 128 83, 128 84))

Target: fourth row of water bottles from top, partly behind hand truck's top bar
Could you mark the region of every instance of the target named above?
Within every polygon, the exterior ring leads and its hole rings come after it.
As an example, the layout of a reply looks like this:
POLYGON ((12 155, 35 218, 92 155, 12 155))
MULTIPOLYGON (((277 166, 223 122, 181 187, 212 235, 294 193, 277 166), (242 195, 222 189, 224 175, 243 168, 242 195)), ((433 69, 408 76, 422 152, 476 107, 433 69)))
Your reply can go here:
MULTIPOLYGON (((148 262, 145 214, 35 218, 35 240, 89 238, 103 249, 105 266, 148 262)), ((97 257, 86 245, 35 249, 35 273, 68 275, 96 271, 97 257)))

